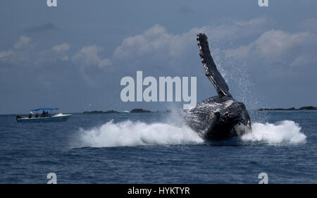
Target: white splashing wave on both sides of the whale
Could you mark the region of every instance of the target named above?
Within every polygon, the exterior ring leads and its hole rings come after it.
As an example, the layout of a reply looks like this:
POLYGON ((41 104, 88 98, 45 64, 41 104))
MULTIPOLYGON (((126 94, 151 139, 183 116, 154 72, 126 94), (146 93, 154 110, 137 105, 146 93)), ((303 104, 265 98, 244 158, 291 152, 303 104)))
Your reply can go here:
MULTIPOLYGON (((143 123, 126 120, 89 130, 80 128, 76 147, 135 147, 179 144, 204 144, 204 140, 186 125, 143 123)), ((232 144, 232 141, 229 141, 232 144)), ((279 123, 254 123, 252 132, 238 137, 236 144, 301 144, 306 135, 292 120, 279 123)), ((226 145, 226 144, 224 144, 226 145)))

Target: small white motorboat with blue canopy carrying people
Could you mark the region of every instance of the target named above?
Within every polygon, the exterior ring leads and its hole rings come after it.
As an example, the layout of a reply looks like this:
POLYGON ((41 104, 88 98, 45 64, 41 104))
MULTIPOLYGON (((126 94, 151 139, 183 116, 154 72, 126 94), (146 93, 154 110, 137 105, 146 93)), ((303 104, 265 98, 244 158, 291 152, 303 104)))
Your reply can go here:
POLYGON ((52 111, 58 110, 57 108, 39 108, 30 110, 30 114, 22 118, 16 116, 18 123, 52 123, 52 122, 65 122, 70 118, 72 114, 63 113, 51 113, 52 111), (39 113, 42 111, 42 113, 39 113), (50 111, 50 112, 49 112, 50 111))

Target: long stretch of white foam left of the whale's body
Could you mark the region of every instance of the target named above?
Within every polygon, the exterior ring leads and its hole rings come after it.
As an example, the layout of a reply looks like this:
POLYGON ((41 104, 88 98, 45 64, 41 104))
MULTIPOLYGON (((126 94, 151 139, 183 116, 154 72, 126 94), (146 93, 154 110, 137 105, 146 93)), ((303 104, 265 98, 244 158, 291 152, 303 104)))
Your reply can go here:
POLYGON ((185 125, 113 120, 91 130, 80 129, 79 147, 134 147, 139 145, 199 144, 204 140, 185 125))

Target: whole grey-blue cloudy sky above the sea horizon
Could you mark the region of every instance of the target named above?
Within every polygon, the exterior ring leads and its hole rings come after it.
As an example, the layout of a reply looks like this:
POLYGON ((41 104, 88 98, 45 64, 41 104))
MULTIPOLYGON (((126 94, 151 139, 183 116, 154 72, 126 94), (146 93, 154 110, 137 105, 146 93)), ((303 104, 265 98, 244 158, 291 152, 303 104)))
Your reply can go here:
MULTIPOLYGON (((247 109, 317 106, 317 1, 0 1, 0 114, 164 111, 182 102, 120 99, 120 80, 197 77, 216 96, 196 35, 209 37, 232 96, 247 109)), ((144 87, 145 88, 145 87, 144 87)))

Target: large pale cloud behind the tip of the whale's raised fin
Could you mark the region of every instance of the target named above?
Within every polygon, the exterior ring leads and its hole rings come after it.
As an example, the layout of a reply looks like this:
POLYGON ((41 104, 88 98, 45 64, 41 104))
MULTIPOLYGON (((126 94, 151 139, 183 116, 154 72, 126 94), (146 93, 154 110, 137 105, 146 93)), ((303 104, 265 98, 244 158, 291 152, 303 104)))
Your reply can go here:
POLYGON ((255 18, 247 21, 235 21, 218 26, 193 27, 182 34, 169 33, 165 27, 154 25, 142 34, 127 37, 113 53, 112 61, 126 61, 129 66, 133 63, 153 64, 161 62, 166 68, 184 67, 186 59, 192 56, 197 60, 198 32, 209 36, 211 46, 223 44, 224 39, 249 37, 263 32, 268 23, 267 18, 255 18), (140 61, 142 60, 142 61, 140 61))

